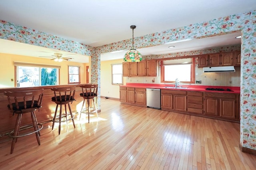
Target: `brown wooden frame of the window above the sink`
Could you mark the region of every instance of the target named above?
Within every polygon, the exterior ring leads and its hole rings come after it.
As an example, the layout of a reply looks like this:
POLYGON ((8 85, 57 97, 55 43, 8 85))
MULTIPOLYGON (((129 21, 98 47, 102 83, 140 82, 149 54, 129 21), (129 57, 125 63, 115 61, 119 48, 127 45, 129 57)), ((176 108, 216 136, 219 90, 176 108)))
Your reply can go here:
MULTIPOLYGON (((190 81, 179 81, 180 83, 191 83, 194 84, 195 81, 195 69, 196 69, 196 63, 195 63, 195 57, 184 57, 184 58, 192 58, 192 64, 191 64, 191 69, 190 69, 190 81)), ((184 58, 179 58, 179 59, 184 59, 184 58)), ((171 59, 174 60, 174 59, 171 59)), ((161 83, 175 83, 175 81, 165 81, 164 80, 164 64, 163 61, 161 61, 160 64, 161 68, 161 83)), ((179 65, 179 64, 176 64, 179 65)))

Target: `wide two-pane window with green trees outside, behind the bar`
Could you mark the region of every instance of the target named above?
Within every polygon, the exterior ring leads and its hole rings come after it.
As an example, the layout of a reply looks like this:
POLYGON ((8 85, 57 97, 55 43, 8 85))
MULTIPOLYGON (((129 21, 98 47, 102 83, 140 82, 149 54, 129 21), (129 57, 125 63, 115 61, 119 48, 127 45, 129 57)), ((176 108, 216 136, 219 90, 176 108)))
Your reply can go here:
POLYGON ((58 68, 16 66, 18 87, 49 86, 58 84, 58 68))

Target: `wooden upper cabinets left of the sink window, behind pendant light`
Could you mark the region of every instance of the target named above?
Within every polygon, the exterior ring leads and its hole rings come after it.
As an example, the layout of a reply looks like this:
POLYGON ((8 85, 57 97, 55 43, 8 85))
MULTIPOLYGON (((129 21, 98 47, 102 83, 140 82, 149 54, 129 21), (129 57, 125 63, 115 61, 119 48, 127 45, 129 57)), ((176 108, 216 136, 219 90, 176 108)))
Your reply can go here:
POLYGON ((156 76, 156 60, 123 62, 123 76, 156 76))

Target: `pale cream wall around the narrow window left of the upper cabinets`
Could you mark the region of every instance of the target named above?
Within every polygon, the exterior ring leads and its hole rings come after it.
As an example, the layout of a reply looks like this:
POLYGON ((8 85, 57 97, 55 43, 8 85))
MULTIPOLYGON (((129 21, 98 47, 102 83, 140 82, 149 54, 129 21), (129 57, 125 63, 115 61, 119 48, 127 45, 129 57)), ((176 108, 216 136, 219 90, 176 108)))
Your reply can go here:
MULTIPOLYGON (((111 64, 120 64, 123 59, 100 62, 100 95, 119 99, 119 85, 112 85, 111 64)), ((123 81, 126 79, 123 78, 123 81)), ((123 82, 126 84, 126 82, 123 82)))

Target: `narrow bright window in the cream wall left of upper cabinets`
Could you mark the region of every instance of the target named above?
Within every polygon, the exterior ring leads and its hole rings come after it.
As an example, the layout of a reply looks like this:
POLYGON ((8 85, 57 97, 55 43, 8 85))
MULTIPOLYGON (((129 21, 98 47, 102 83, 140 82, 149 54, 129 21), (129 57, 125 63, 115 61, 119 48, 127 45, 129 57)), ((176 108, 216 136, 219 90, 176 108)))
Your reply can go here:
POLYGON ((112 64, 112 84, 123 84, 122 64, 112 64))

